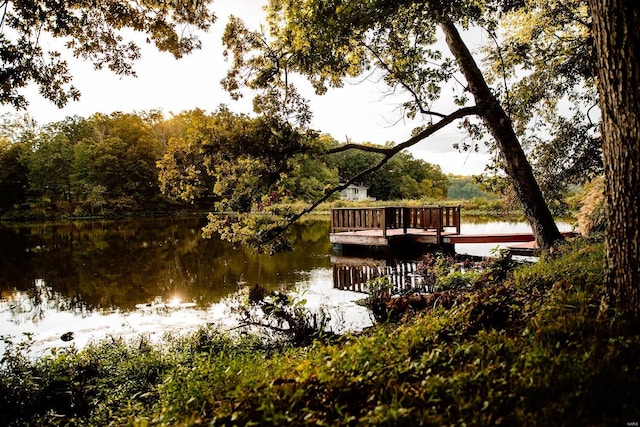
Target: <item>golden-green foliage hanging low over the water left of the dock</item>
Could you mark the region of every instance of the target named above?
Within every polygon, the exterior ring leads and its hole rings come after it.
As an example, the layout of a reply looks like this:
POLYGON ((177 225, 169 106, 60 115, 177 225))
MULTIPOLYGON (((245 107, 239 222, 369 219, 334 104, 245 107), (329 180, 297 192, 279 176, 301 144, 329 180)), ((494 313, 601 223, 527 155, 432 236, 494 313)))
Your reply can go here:
POLYGON ((285 249, 279 224, 260 222, 250 213, 258 204, 268 206, 287 196, 290 176, 306 167, 305 155, 317 155, 324 140, 277 114, 249 117, 220 108, 188 116, 184 133, 170 139, 158 162, 165 194, 184 200, 210 194, 217 211, 236 213, 232 218, 210 215, 205 235, 219 232, 234 243, 255 243, 262 251, 285 249), (250 228, 260 230, 249 233, 250 228), (270 244, 263 245, 266 241, 270 244))

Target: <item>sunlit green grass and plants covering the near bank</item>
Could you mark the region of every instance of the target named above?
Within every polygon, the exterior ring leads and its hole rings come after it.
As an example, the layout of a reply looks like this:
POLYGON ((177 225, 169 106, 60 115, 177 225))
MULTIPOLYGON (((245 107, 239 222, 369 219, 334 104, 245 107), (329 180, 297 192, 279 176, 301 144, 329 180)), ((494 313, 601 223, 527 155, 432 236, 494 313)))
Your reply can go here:
MULTIPOLYGON (((508 259, 422 299, 400 323, 311 345, 231 337, 111 340, 5 354, 3 425, 627 425, 640 340, 601 306, 603 245, 508 259), (11 410, 9 410, 11 408, 11 410)), ((455 283, 454 283, 455 282, 455 283)))

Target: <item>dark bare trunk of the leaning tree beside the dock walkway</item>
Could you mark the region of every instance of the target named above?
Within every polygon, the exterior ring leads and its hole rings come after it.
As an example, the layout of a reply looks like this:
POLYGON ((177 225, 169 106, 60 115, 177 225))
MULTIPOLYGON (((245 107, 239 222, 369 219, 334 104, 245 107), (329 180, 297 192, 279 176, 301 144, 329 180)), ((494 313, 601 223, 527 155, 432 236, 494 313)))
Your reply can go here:
POLYGON ((563 236, 533 176, 531 164, 513 130, 511 119, 489 89, 482 72, 453 23, 443 22, 440 27, 444 31, 451 53, 467 79, 469 91, 473 94, 489 131, 498 143, 505 161, 505 172, 522 203, 527 220, 531 223, 536 242, 541 248, 550 248, 563 236))

